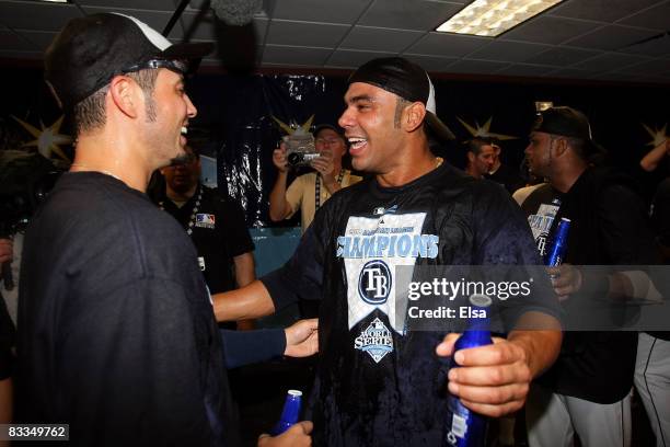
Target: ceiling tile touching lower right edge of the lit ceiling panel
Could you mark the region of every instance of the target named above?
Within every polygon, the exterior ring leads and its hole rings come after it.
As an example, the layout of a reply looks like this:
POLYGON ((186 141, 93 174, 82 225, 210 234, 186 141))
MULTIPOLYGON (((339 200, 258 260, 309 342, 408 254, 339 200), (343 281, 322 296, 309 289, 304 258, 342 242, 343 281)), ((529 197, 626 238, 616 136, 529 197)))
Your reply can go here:
POLYGON ((506 41, 515 39, 555 45, 588 33, 593 30, 593 25, 592 22, 540 15, 508 31, 500 37, 506 41))

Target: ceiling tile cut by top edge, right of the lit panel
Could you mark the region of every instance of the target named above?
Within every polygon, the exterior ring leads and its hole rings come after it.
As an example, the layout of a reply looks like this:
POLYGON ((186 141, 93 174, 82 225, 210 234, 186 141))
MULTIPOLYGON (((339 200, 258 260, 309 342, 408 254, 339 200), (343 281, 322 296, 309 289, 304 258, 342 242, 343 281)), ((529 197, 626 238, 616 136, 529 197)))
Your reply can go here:
POLYGON ((548 11, 551 15, 614 22, 659 0, 568 0, 548 11))

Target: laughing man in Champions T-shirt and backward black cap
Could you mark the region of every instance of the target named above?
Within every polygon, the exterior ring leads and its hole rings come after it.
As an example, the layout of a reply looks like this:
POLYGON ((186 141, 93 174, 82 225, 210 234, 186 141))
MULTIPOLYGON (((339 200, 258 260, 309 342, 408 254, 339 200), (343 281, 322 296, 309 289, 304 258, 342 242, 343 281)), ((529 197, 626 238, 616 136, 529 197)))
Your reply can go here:
POLYGON ((443 445, 451 424, 448 390, 486 415, 521 408, 531 378, 558 353, 557 301, 494 298, 496 308, 515 316, 508 339, 455 354, 458 335, 446 336, 452 322, 407 330, 405 313, 396 316, 407 299, 406 289, 396 289, 403 266, 416 274, 429 266, 540 261, 503 188, 430 152, 428 134, 442 140, 452 134, 436 115, 426 71, 402 58, 374 59, 349 79, 345 104, 339 125, 354 168, 373 177, 335 194, 282 268, 215 297, 215 313, 236 319, 297 298, 321 299, 321 358, 310 409, 314 443, 443 445), (513 330, 531 320, 541 330, 513 330), (452 354, 461 367, 447 376, 440 357, 452 354))

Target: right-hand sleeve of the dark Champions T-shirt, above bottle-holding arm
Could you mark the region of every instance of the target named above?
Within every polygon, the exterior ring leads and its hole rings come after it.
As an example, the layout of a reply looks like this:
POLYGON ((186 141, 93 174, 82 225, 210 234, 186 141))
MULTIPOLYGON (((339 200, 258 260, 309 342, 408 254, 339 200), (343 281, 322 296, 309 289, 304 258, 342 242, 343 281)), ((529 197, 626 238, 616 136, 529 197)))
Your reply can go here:
MULTIPOLYGON (((523 211, 506 190, 490 188, 475 208, 474 222, 478 234, 475 248, 477 264, 492 265, 488 279, 498 284, 527 283, 530 294, 494 299, 504 332, 517 328, 525 312, 538 311, 563 320, 563 311, 546 274, 523 211)), ((540 328, 538 328, 540 329, 540 328)))

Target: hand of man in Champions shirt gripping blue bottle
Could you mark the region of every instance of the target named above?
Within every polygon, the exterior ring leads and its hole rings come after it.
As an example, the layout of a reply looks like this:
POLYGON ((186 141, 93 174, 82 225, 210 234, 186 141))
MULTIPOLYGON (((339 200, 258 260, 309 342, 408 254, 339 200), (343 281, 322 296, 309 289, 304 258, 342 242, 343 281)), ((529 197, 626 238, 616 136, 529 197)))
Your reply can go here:
POLYGON ((532 374, 525 351, 505 339, 494 344, 460 349, 453 344, 460 334, 449 334, 436 352, 441 357, 453 354, 457 368, 449 370, 449 391, 480 414, 499 417, 523 406, 532 374))

